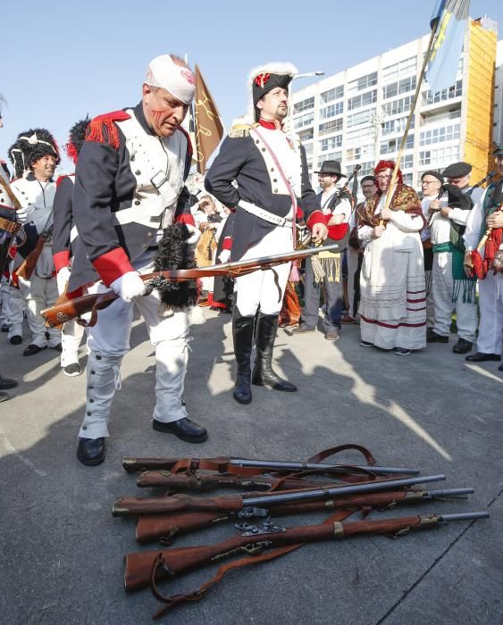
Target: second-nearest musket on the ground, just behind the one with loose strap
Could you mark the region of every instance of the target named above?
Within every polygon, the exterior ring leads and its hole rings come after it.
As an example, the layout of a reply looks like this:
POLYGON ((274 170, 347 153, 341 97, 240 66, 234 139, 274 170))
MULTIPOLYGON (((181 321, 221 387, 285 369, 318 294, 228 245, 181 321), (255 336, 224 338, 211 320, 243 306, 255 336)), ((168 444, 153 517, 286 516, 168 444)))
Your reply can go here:
POLYGON ((198 529, 214 527, 215 523, 285 516, 303 512, 330 512, 333 510, 369 510, 393 508, 400 504, 420 504, 441 499, 465 499, 473 488, 444 488, 442 490, 419 490, 407 488, 384 493, 348 495, 329 500, 314 500, 265 508, 243 508, 238 514, 231 512, 180 512, 179 514, 142 514, 136 525, 136 539, 140 545, 160 540, 171 543, 174 536, 189 534, 198 529))

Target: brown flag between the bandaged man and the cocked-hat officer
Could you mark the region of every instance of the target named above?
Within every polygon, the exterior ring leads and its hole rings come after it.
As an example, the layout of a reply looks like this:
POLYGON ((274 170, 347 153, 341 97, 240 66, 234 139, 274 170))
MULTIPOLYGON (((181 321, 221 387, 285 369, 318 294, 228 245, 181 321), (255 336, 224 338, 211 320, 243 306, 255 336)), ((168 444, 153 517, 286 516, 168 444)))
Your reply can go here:
POLYGON ((222 141, 223 126, 214 99, 197 65, 194 117, 196 119, 196 154, 194 157, 197 160, 197 171, 204 173, 206 162, 222 141))

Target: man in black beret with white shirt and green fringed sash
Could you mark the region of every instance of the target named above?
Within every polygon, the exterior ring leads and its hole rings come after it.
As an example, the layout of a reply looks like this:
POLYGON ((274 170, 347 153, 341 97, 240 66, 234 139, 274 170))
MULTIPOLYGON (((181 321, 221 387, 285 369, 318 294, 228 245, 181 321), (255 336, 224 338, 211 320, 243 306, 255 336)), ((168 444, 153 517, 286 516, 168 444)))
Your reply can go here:
POLYGON ((476 199, 482 193, 470 187, 472 166, 468 162, 454 162, 443 171, 448 180, 446 193, 430 202, 431 240, 433 250, 432 293, 435 322, 427 335, 428 343, 449 341, 452 313, 457 315, 457 344, 455 354, 467 354, 474 344, 477 331, 475 283, 467 278, 463 268, 465 246, 463 234, 466 221, 476 199), (456 205, 453 197, 458 196, 456 205), (461 195, 460 195, 460 192, 461 195), (465 197, 463 197, 465 194, 465 197), (465 201, 463 201, 465 200, 465 201), (472 201, 473 200, 473 201, 472 201))

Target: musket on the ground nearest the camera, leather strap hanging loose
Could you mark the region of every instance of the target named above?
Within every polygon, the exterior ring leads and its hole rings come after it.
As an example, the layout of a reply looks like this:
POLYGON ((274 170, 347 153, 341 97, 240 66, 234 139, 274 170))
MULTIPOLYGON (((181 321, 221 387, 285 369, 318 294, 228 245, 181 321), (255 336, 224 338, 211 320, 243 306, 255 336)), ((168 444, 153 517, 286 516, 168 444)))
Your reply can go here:
MULTIPOLYGON (((152 586, 155 597, 172 607, 188 600, 199 599, 208 587, 222 578, 229 569, 224 565, 214 579, 197 591, 177 596, 163 596, 157 588, 162 579, 178 577, 232 555, 259 555, 276 547, 302 545, 322 540, 342 540, 363 535, 403 536, 415 529, 433 529, 450 521, 474 521, 486 519, 488 512, 464 512, 459 514, 426 514, 376 521, 335 521, 320 525, 281 528, 268 522, 263 528, 245 526, 242 533, 221 543, 207 546, 189 546, 165 550, 143 551, 124 557, 124 587, 132 592, 152 586)), ((157 613, 157 616, 163 612, 157 613)))

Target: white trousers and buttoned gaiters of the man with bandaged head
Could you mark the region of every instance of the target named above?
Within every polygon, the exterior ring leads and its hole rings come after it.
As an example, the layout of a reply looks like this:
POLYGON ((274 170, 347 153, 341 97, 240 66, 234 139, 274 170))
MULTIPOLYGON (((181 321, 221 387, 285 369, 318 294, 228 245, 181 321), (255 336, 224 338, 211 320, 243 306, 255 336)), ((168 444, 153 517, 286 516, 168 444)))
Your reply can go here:
MULTIPOLYGON (((151 266, 146 268, 150 270, 151 266)), ((101 283, 89 292, 108 290, 101 283)), ((88 394, 86 413, 79 436, 109 436, 108 418, 115 395, 121 387, 122 356, 130 350, 133 306, 147 325, 150 342, 155 346, 155 409, 157 421, 178 421, 188 416, 181 404, 188 361, 189 314, 160 310, 157 292, 137 297, 133 302, 117 299, 98 312, 97 323, 88 328, 88 394)))

